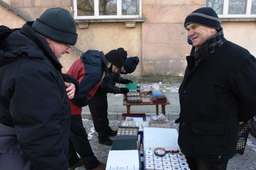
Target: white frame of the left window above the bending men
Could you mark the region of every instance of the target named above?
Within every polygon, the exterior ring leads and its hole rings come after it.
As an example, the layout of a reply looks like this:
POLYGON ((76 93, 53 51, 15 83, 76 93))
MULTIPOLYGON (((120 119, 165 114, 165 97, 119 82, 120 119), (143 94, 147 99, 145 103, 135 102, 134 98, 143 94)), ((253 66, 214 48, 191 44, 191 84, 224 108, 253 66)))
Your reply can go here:
POLYGON ((99 15, 99 0, 94 0, 94 15, 93 16, 78 16, 77 0, 73 0, 74 19, 75 20, 95 20, 95 19, 133 19, 142 18, 142 0, 140 0, 139 15, 122 15, 122 0, 116 0, 117 11, 116 15, 99 15))

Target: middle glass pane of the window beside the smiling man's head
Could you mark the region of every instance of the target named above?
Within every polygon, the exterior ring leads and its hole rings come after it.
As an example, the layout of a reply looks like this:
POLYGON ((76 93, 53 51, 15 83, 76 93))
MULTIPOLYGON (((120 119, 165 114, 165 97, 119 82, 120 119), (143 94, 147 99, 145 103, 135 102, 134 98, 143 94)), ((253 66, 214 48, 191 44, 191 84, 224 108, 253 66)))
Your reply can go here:
POLYGON ((247 0, 229 0, 228 14, 246 14, 247 0))

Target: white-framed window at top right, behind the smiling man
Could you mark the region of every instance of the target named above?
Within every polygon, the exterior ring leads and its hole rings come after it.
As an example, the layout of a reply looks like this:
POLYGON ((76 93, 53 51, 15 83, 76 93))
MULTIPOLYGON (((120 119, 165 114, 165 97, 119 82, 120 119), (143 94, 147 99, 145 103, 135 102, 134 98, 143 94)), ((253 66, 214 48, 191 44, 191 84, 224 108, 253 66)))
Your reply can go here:
POLYGON ((207 0, 220 18, 256 17, 256 0, 207 0))

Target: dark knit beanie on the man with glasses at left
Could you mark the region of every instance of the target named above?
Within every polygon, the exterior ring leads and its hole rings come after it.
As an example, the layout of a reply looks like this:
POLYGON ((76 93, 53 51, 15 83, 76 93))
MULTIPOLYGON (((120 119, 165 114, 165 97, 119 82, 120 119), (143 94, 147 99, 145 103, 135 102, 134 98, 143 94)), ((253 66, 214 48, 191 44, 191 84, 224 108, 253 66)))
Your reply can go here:
POLYGON ((66 9, 47 9, 35 20, 32 28, 51 40, 69 45, 76 44, 76 22, 66 9))

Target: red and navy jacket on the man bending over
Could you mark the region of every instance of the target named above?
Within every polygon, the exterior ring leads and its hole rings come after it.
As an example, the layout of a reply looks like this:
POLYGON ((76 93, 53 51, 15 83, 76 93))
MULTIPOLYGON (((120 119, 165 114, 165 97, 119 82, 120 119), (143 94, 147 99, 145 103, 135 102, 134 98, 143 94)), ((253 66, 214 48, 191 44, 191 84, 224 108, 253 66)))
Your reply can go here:
POLYGON ((95 94, 107 69, 107 59, 102 51, 88 50, 71 65, 67 74, 79 81, 79 92, 70 100, 71 114, 82 113, 82 107, 95 94))

